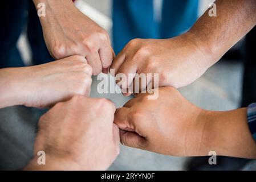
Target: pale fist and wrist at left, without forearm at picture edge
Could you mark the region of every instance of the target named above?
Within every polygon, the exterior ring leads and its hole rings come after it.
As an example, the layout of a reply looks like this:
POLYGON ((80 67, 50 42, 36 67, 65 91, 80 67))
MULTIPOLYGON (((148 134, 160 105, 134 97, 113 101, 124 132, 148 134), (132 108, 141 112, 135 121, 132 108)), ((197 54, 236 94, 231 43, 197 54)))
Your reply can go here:
POLYGON ((92 68, 82 56, 71 56, 34 67, 20 68, 16 74, 21 104, 51 107, 72 96, 89 96, 92 68))

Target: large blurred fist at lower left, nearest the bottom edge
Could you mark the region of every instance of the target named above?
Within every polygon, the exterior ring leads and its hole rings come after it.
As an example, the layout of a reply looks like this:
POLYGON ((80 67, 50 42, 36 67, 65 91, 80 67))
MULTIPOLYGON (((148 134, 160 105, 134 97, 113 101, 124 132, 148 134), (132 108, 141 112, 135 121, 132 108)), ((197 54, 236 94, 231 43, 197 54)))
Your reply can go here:
POLYGON ((112 102, 83 96, 56 104, 39 121, 34 159, 26 169, 105 170, 119 154, 112 102), (37 164, 38 151, 46 165, 37 164))

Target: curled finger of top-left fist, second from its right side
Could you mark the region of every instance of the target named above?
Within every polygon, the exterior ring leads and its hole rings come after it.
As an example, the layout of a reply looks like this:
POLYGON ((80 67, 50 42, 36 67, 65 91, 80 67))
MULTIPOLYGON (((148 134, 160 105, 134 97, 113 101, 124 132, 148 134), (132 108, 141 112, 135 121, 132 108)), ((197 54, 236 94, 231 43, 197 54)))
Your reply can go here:
POLYGON ((88 54, 86 56, 86 60, 88 64, 90 64, 92 67, 92 75, 94 76, 98 75, 102 70, 99 53, 96 52, 96 53, 88 54))

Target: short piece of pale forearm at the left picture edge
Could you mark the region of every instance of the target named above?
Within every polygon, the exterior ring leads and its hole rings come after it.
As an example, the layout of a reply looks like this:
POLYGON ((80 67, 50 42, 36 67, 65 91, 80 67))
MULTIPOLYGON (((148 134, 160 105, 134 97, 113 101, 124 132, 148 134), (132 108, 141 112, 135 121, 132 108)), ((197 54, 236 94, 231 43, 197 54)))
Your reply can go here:
POLYGON ((19 68, 0 69, 0 108, 21 105, 24 90, 18 88, 17 80, 22 75, 17 75, 19 68))

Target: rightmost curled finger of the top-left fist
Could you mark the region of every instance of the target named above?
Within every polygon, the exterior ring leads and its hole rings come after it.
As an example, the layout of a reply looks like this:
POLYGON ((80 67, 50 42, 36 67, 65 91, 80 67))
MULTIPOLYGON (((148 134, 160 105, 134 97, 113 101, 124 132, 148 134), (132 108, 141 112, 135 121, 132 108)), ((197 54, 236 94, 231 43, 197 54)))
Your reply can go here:
POLYGON ((102 68, 110 67, 113 60, 112 47, 108 46, 108 47, 100 48, 99 55, 100 55, 102 68))

